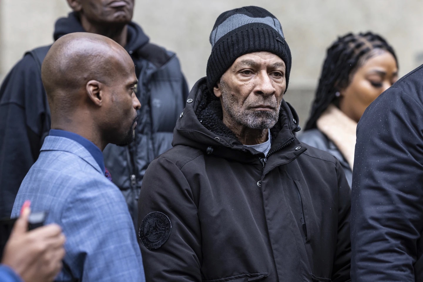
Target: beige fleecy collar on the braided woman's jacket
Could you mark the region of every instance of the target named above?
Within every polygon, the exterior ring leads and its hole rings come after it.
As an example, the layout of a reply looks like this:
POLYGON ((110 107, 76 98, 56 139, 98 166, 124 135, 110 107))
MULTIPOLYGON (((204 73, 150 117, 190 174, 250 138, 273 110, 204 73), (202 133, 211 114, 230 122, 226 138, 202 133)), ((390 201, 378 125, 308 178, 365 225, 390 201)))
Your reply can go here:
POLYGON ((335 105, 330 104, 316 124, 317 128, 338 147, 352 170, 357 123, 335 105))

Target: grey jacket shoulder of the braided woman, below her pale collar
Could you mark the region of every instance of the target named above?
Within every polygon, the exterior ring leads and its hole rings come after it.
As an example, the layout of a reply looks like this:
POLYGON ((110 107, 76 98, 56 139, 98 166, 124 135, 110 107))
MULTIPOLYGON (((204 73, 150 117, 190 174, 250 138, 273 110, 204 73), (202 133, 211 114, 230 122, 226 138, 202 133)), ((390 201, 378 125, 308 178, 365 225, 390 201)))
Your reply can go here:
POLYGON ((352 185, 352 169, 336 145, 319 129, 310 129, 298 135, 298 139, 307 145, 326 151, 335 156, 345 172, 349 186, 352 185))

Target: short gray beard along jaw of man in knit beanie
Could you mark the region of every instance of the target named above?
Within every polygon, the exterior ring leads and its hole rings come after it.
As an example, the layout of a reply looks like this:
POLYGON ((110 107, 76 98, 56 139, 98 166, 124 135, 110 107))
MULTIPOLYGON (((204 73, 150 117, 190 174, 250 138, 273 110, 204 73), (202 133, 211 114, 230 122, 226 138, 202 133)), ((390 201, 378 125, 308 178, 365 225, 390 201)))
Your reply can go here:
POLYGON ((220 87, 223 107, 236 123, 252 129, 269 129, 277 123, 280 106, 275 111, 243 111, 237 106, 224 82, 220 82, 220 87))

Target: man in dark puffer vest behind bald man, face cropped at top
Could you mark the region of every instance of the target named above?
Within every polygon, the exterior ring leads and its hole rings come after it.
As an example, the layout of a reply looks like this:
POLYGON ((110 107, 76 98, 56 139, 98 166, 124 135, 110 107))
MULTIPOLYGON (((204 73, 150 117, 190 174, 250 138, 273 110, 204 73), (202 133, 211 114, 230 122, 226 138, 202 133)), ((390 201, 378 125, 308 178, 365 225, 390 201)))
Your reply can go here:
MULTIPOLYGON (((151 44, 140 26, 131 22, 134 1, 68 0, 74 12, 58 19, 54 39, 74 32, 97 33, 118 42, 132 57, 142 105, 135 142, 124 147, 109 145, 104 161, 124 193, 136 225, 144 172, 156 156, 171 147, 188 88, 176 55, 151 44)), ((0 88, 0 218, 10 216, 19 186, 50 129, 41 82, 41 63, 49 47, 26 53, 0 88)))

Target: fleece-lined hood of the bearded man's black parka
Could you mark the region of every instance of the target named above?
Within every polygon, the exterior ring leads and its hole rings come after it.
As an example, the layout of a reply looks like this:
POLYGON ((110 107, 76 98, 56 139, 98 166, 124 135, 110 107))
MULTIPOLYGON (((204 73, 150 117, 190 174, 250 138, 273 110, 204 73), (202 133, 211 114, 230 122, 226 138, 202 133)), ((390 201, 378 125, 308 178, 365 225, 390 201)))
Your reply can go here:
MULTIPOLYGON (((272 147, 269 154, 294 140, 299 143, 295 135, 295 132, 299 130, 297 112, 283 100, 279 120, 270 129, 272 147)), ((172 145, 186 145, 208 154, 220 152, 219 155, 226 158, 235 157, 234 155, 239 153, 245 155, 247 152, 254 156, 263 154, 242 145, 235 134, 223 123, 220 100, 210 93, 206 77, 198 80, 192 88, 185 109, 176 122, 172 145)), ((295 155, 302 151, 297 149, 295 155)))

